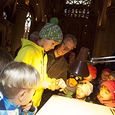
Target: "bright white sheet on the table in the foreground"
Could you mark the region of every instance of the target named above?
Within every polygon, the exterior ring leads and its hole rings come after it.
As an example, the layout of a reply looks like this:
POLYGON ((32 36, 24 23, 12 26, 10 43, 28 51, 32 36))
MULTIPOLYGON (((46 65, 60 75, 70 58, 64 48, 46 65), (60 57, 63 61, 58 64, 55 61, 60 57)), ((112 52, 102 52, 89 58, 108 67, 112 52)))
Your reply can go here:
POLYGON ((53 95, 37 115, 113 115, 109 107, 53 95))

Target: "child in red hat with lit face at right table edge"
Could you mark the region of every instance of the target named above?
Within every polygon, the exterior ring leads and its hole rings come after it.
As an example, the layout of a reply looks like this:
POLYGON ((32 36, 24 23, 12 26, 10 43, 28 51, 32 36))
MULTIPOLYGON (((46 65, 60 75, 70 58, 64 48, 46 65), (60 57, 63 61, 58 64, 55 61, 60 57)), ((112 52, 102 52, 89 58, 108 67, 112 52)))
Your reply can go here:
POLYGON ((115 81, 107 80, 100 85, 97 99, 103 105, 115 107, 115 81))

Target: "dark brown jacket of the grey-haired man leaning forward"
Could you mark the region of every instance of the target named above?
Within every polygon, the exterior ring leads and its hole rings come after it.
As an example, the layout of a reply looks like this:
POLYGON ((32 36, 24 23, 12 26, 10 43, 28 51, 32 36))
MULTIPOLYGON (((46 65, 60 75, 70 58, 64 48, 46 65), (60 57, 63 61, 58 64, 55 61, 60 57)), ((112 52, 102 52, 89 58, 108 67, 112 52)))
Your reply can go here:
POLYGON ((69 65, 64 56, 55 58, 54 51, 48 52, 47 73, 50 78, 66 80, 69 65))

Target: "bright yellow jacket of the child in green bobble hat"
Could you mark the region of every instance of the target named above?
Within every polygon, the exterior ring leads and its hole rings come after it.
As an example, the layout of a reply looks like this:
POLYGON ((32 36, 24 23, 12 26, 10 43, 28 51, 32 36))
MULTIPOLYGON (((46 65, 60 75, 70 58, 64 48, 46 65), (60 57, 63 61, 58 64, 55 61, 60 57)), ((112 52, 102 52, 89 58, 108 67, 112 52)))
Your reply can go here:
POLYGON ((47 55, 44 53, 44 49, 35 44, 34 42, 27 39, 22 39, 21 41, 22 47, 19 50, 15 61, 25 62, 35 67, 40 74, 41 83, 43 82, 44 84, 38 87, 35 92, 35 95, 33 96, 33 104, 34 106, 38 107, 41 101, 44 88, 48 88, 48 85, 50 85, 50 83, 52 82, 52 79, 48 78, 46 73, 47 55))

